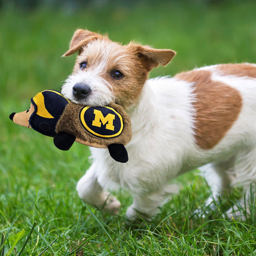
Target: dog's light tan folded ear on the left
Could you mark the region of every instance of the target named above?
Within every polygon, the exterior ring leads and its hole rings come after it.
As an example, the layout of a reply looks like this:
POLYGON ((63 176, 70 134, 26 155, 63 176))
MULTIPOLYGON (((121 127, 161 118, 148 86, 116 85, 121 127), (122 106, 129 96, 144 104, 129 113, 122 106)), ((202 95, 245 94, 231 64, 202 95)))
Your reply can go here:
POLYGON ((101 34, 97 34, 89 30, 76 30, 74 36, 71 39, 69 50, 65 54, 63 54, 62 57, 70 56, 77 51, 80 54, 80 51, 82 50, 84 45, 91 42, 92 40, 103 38, 106 38, 106 36, 102 36, 101 34))

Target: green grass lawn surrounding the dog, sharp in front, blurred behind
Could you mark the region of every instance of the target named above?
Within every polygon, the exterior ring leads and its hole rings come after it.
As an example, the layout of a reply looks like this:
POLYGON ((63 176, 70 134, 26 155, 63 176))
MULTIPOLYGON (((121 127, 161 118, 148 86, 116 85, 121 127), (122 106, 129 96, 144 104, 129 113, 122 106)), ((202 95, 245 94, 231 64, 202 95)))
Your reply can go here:
POLYGON ((60 89, 75 58, 60 56, 78 27, 178 51, 154 77, 215 63, 255 63, 255 13, 254 1, 0 10, 0 255, 255 255, 254 204, 246 222, 230 222, 221 211, 211 219, 194 216, 209 196, 197 171, 177 179, 181 192, 153 222, 130 227, 126 192, 116 193, 118 217, 78 199, 75 184, 90 165, 87 147, 61 152, 51 138, 8 120, 40 90, 60 89))

